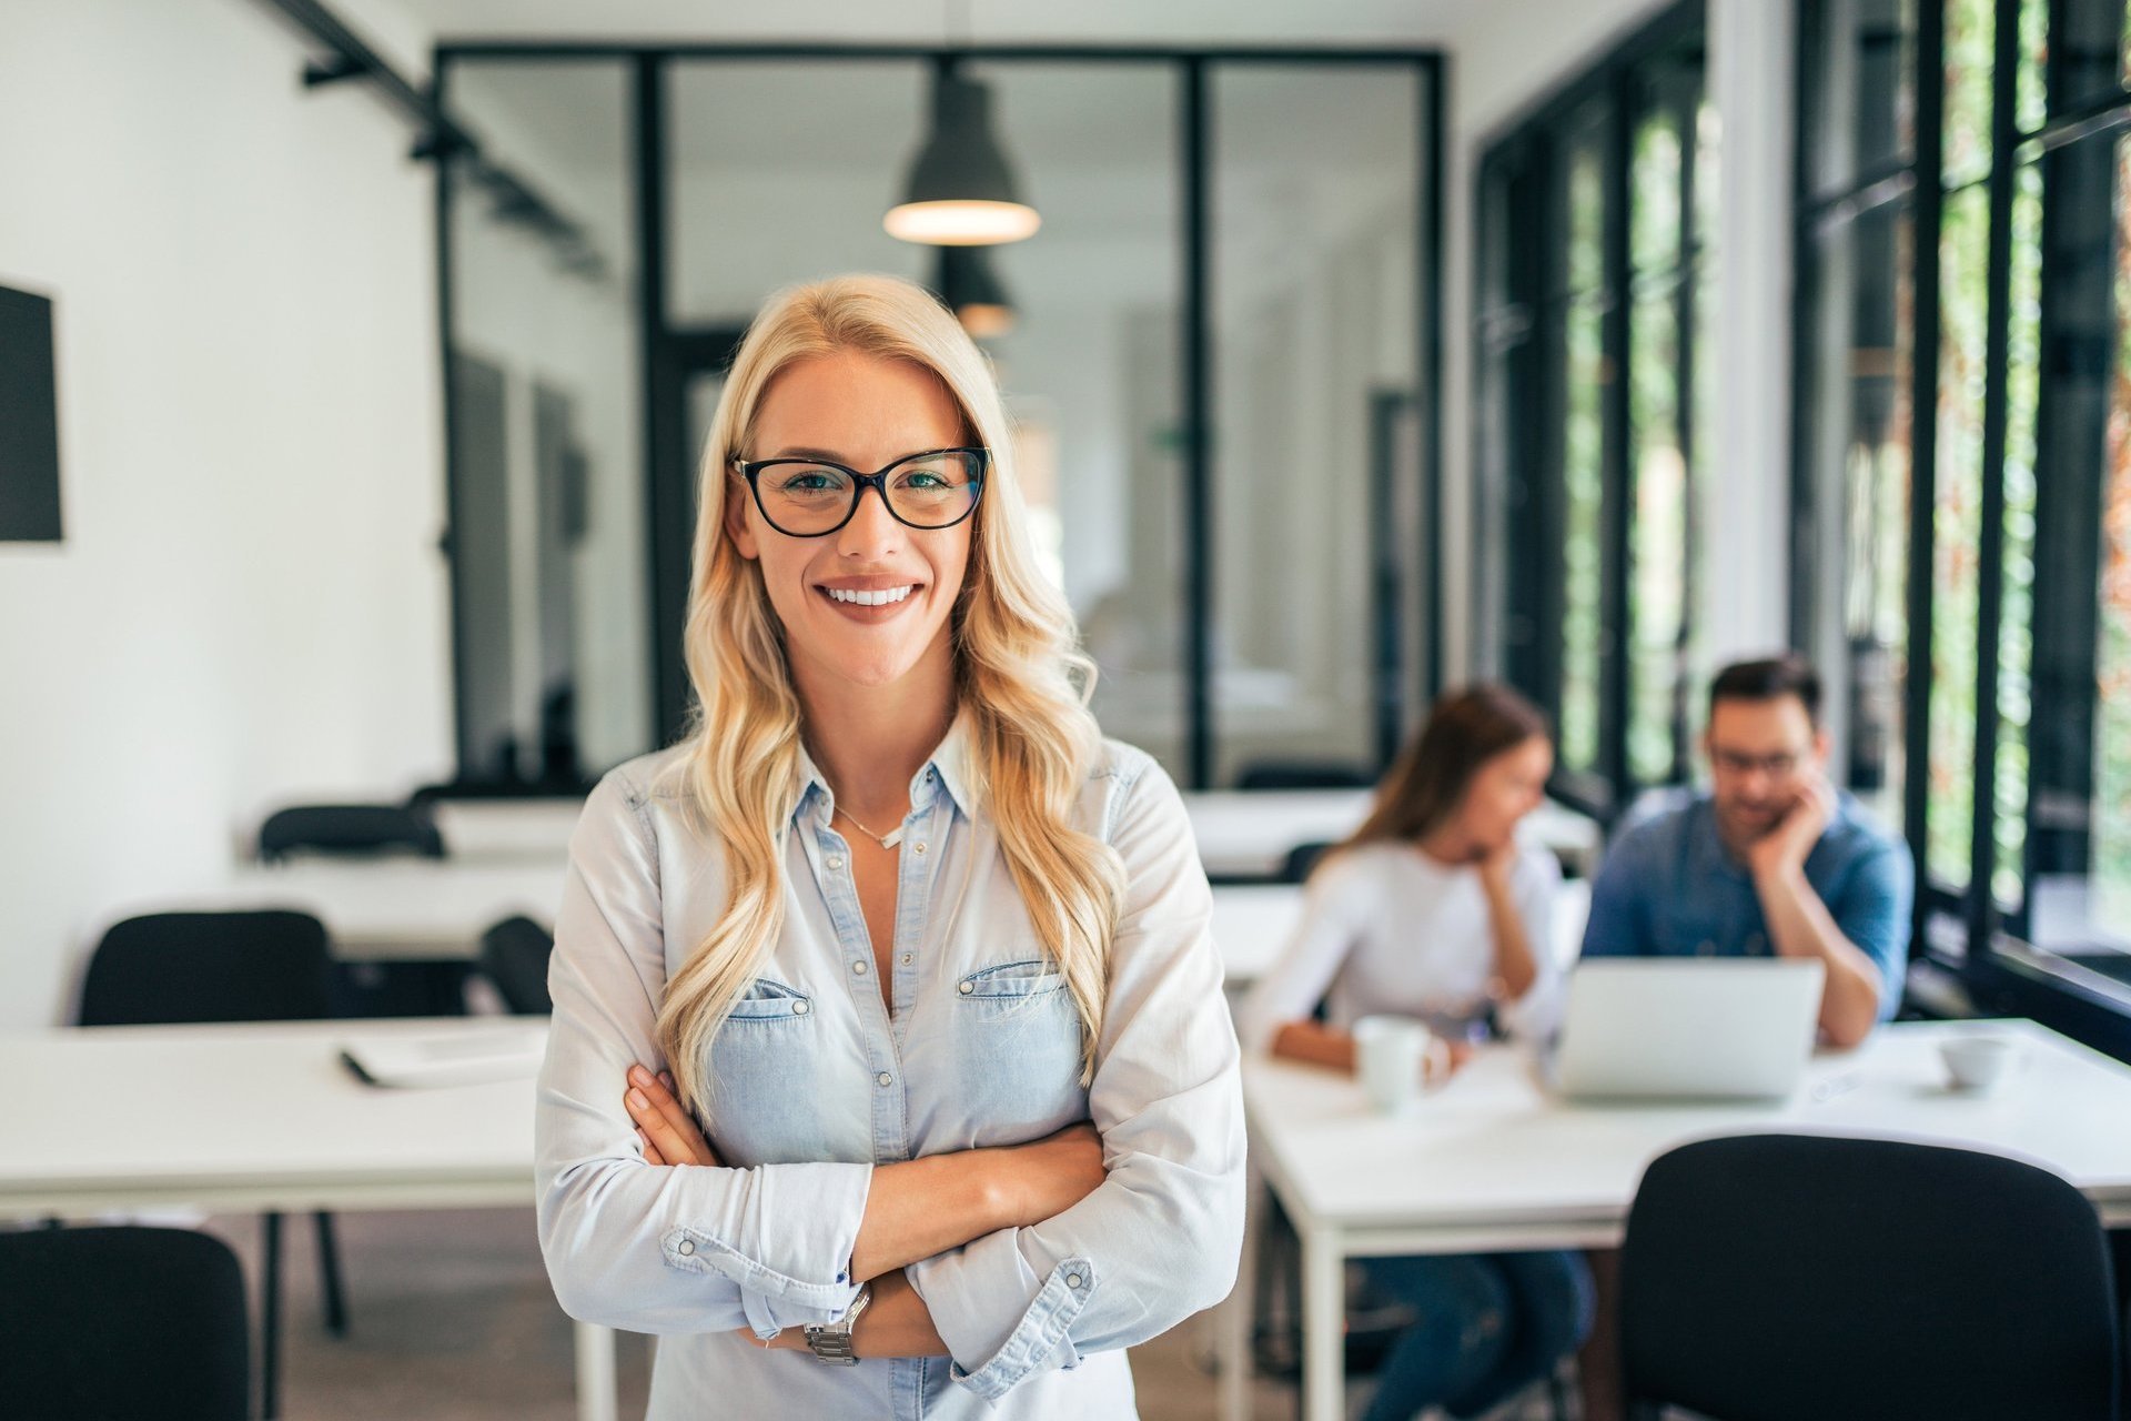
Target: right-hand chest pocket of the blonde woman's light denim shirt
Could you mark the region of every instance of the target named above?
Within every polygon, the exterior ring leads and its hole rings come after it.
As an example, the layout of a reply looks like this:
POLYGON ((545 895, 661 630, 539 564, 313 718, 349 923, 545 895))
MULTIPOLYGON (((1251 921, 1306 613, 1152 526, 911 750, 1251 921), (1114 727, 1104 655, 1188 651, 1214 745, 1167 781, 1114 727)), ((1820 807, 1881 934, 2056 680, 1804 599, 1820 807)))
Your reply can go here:
POLYGON ((1080 1012, 1044 959, 978 967, 955 982, 957 1080, 985 1144, 1046 1136, 1087 1118, 1080 1012))

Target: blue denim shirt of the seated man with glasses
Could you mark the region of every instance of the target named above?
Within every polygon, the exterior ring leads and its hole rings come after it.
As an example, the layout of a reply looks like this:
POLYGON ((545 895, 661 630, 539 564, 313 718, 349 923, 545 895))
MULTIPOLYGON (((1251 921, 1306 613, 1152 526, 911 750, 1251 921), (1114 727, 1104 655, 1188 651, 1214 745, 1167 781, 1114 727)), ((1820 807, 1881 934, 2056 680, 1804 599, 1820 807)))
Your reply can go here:
MULTIPOLYGON (((1880 1018, 1901 1003, 1916 869, 1909 846, 1841 807, 1805 859, 1805 882, 1835 927, 1880 967, 1880 1018)), ((1630 827, 1592 884, 1583 957, 1773 957, 1760 895, 1718 837, 1709 793, 1681 790, 1630 827)))

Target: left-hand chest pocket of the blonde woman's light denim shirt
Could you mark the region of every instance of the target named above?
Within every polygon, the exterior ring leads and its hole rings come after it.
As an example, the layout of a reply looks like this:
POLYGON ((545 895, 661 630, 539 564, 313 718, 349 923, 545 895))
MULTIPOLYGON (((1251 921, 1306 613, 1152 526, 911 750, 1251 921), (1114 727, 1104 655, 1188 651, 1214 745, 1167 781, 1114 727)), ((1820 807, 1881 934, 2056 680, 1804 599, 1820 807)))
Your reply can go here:
POLYGON ((797 986, 757 978, 710 1042, 712 1140, 727 1163, 829 1159, 816 1072, 823 1027, 797 986))

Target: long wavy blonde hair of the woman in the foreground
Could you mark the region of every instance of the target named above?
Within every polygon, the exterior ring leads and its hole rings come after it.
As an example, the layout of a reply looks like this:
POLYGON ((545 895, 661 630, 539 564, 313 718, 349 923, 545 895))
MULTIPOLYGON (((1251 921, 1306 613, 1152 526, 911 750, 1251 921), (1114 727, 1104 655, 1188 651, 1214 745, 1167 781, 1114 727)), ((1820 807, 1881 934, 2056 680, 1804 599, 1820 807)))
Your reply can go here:
POLYGON ((1123 905, 1117 850, 1072 827, 1102 750, 1087 701, 1095 665, 1072 609, 1038 571, 1014 479, 1006 407, 991 362, 927 292, 895 277, 833 277, 786 288, 748 328, 703 447, 686 658, 697 720, 680 763, 684 799, 722 852, 727 910, 667 982, 658 1044, 682 1099, 710 1112, 707 1048, 733 1001, 761 976, 784 927, 784 846, 797 807, 801 709, 761 565, 725 530, 746 486, 763 396, 797 360, 861 352, 931 371, 961 407, 991 471, 972 516, 970 565, 950 614, 955 692, 972 731, 972 797, 982 805, 1036 937, 1080 1014, 1080 1080, 1093 1074, 1110 937, 1123 905))

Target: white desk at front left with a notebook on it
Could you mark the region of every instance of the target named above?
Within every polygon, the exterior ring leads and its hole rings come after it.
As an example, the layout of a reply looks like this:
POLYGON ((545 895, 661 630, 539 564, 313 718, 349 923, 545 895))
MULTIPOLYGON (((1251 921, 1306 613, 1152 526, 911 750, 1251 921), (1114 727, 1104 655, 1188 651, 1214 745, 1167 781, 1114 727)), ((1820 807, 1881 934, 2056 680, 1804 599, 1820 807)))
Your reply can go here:
MULTIPOLYGON (((381 1091, 341 1065, 339 1044, 526 1029, 443 1018, 0 1033, 0 1216, 524 1208, 531 1080, 381 1091), (124 1104, 121 1127, 85 1129, 85 1101, 124 1104)), ((578 1417, 614 1412, 614 1334, 578 1323, 578 1417)))

